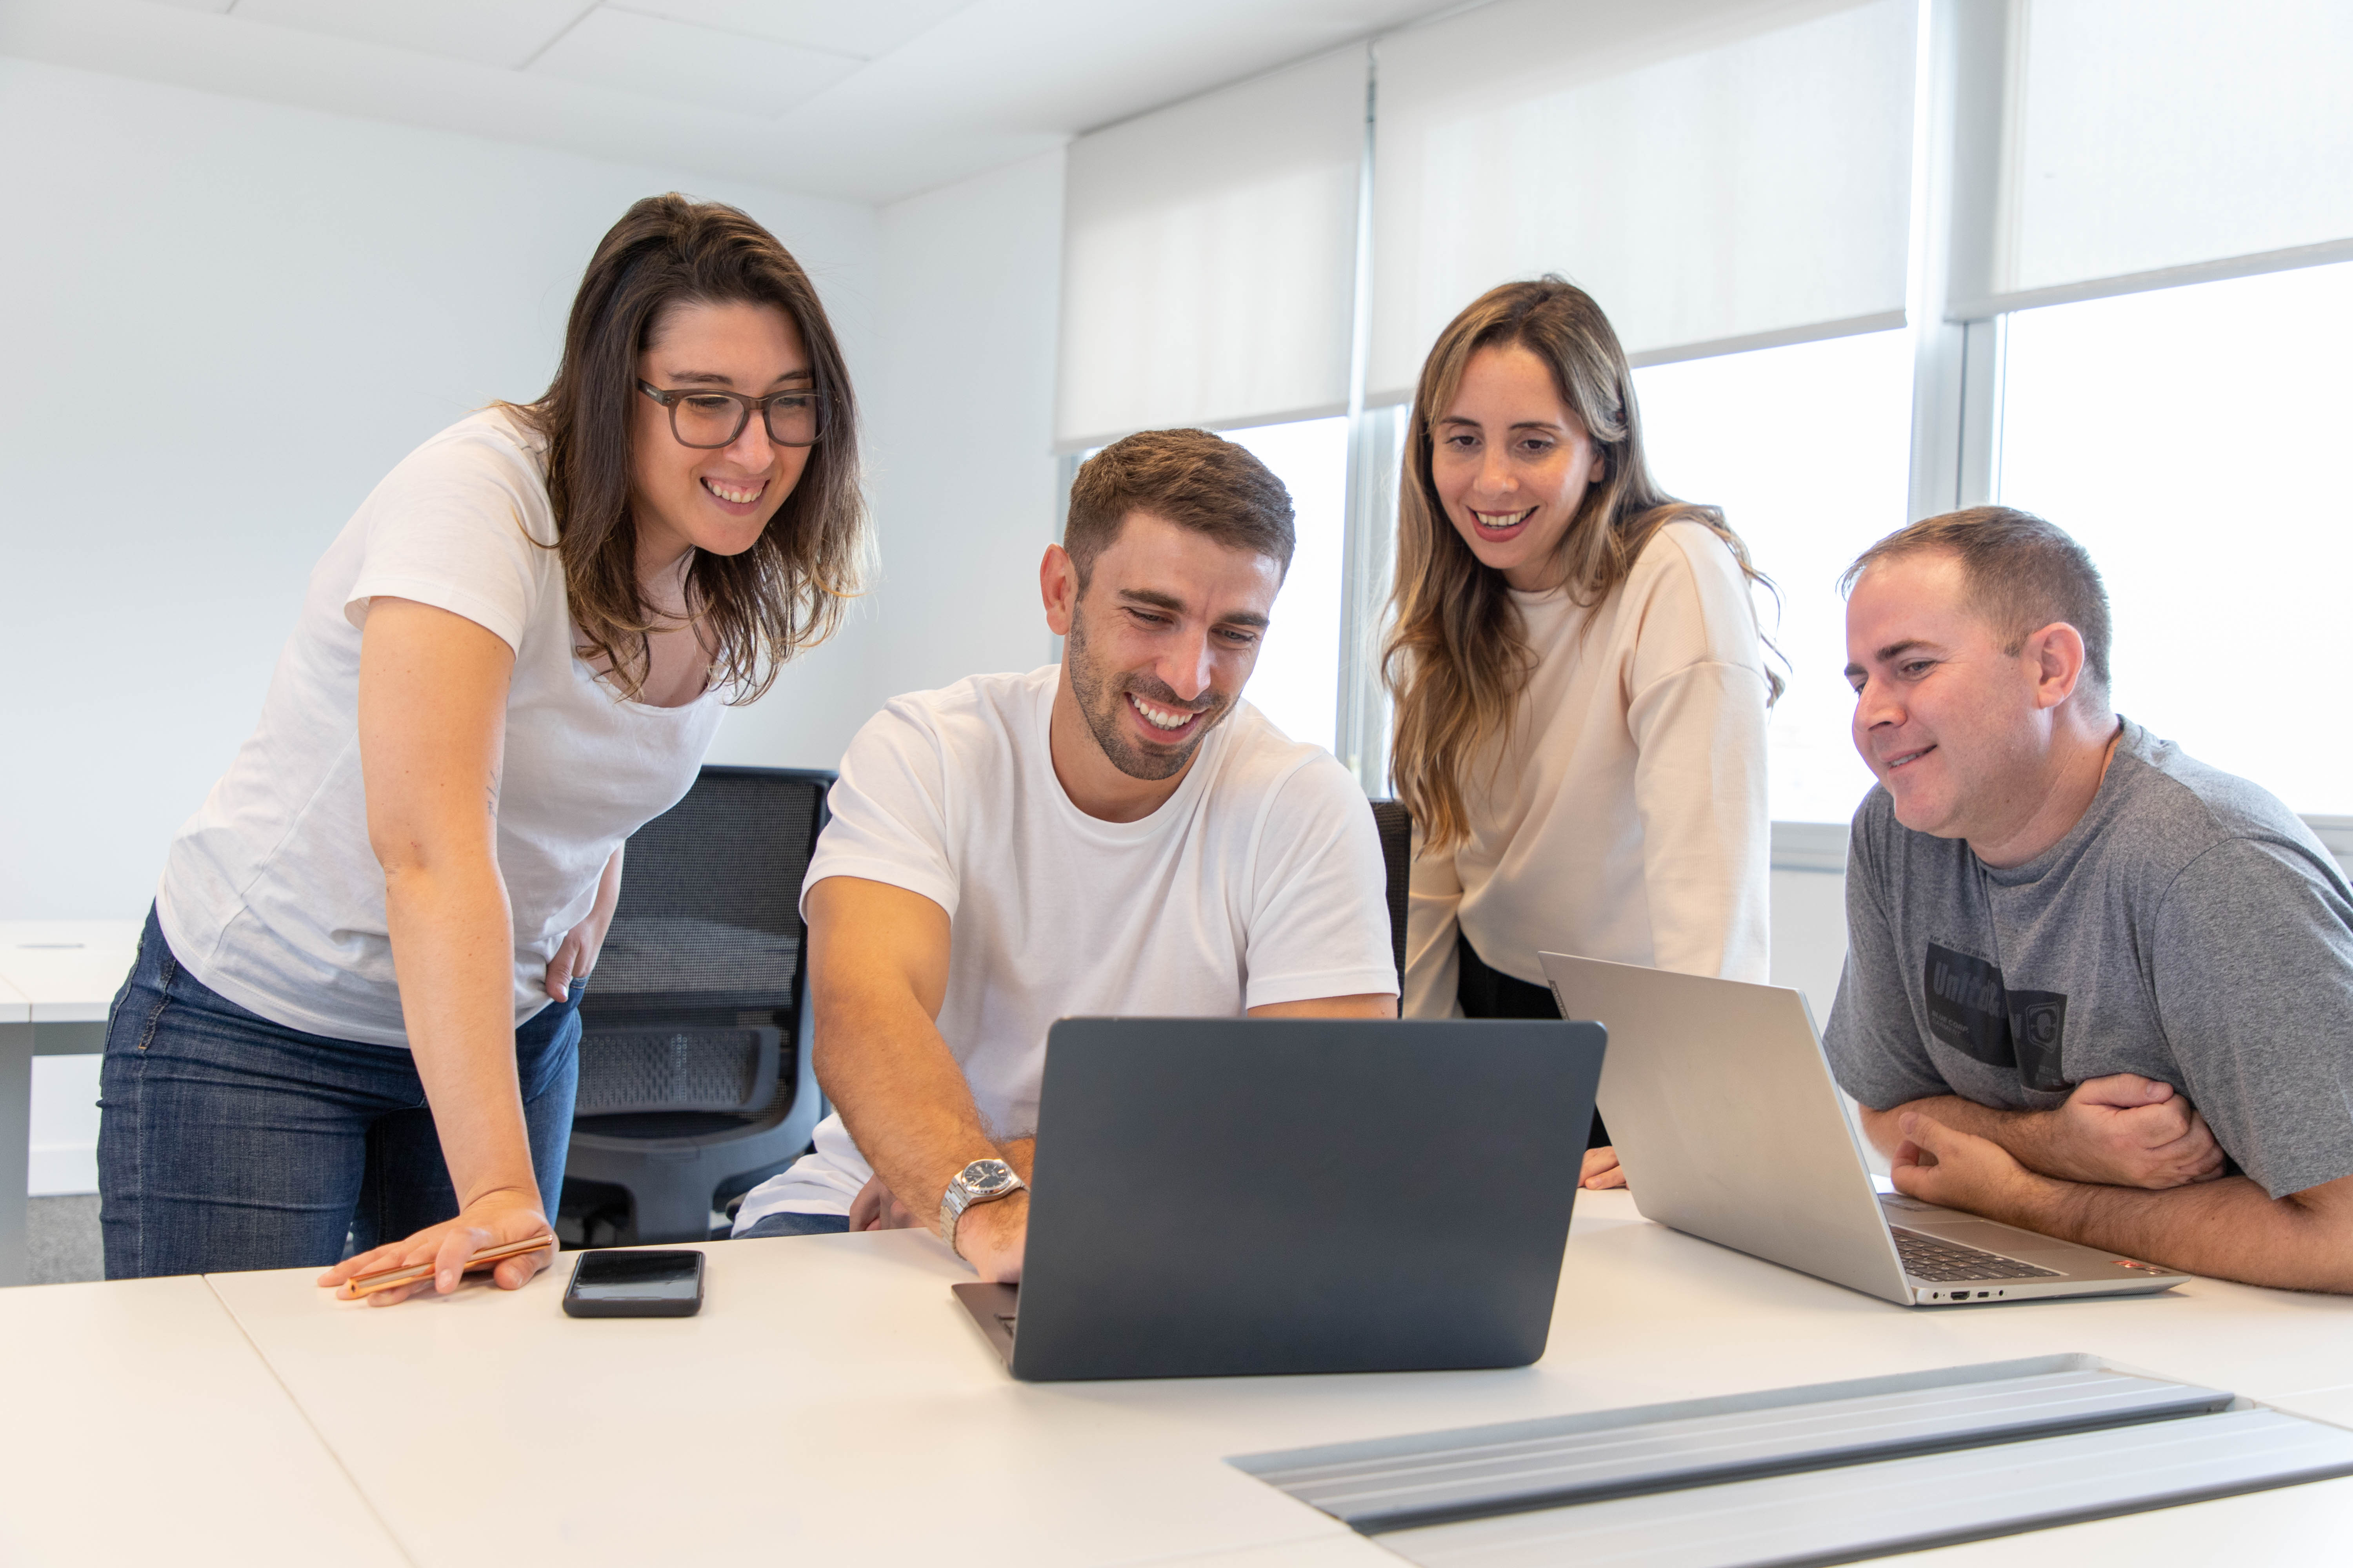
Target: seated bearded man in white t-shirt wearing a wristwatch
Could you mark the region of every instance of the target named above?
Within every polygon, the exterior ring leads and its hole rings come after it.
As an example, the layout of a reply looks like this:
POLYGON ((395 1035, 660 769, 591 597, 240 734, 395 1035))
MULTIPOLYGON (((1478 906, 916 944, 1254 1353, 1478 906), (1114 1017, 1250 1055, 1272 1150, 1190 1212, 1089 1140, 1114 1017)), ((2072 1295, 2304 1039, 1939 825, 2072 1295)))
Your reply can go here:
POLYGON ((1045 1034, 1068 1016, 1393 1018, 1355 780, 1242 703, 1292 503, 1202 430, 1106 447, 1040 567, 1064 661, 875 715, 809 860, 814 1152, 736 1237, 939 1229, 1019 1279, 1045 1034))

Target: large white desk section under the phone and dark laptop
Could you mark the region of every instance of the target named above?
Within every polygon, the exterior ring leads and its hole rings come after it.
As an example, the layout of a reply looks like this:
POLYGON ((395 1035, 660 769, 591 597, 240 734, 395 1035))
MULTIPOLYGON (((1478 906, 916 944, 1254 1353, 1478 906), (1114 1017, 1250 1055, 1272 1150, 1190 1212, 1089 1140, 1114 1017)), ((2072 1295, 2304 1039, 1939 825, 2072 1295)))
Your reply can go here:
MULTIPOLYGON (((1021 1385, 927 1234, 706 1253, 706 1307, 675 1321, 565 1319, 569 1258, 518 1295, 393 1309, 308 1272, 212 1286, 416 1563, 1393 1568, 1224 1458, 2052 1352, 2353 1420, 2353 1300, 2193 1284, 1918 1312, 1647 1225, 1624 1194, 1579 1199, 1548 1354, 1504 1373, 1021 1385)), ((2348 1521, 2353 1481, 2332 1481, 1922 1556, 2318 1561, 2348 1521)))

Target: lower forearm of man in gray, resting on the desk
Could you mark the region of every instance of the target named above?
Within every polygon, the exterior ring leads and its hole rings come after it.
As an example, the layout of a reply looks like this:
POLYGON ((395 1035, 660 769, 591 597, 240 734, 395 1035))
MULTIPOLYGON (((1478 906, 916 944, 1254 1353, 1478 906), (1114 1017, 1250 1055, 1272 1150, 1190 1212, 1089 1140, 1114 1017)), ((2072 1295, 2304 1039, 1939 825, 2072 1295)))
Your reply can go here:
POLYGON ((1906 1133, 1894 1182, 1927 1204, 2186 1274, 2353 1295, 2353 1175, 2285 1197, 2245 1175, 2148 1192, 2038 1175, 1993 1140, 1932 1117, 1911 1117, 1906 1133))

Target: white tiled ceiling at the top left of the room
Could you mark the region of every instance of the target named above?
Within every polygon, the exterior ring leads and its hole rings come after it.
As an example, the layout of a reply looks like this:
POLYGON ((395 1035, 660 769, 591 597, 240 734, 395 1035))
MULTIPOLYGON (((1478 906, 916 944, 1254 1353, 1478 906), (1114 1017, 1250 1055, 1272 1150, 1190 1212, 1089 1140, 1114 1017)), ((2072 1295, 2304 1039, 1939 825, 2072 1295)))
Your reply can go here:
MULTIPOLYGON (((725 28, 711 38, 685 21, 619 12, 722 0, 607 0, 581 21, 584 45, 567 45, 579 54, 558 59, 567 75, 480 63, 494 54, 485 40, 539 0, 240 0, 231 14, 205 9, 209 2, 0 0, 0 54, 805 195, 894 202, 1464 0, 972 0, 864 68, 812 61, 781 40, 762 45, 725 28), (353 19, 362 9, 372 16, 365 24, 353 19), (296 21, 261 21, 261 12, 296 21), (433 16, 440 33, 424 26, 433 16), (699 42, 685 52, 649 47, 645 59, 631 59, 628 42, 586 49, 614 21, 675 26, 699 42), (781 52, 781 61, 741 63, 760 47, 781 52), (826 87, 840 71, 852 73, 826 87), (795 96, 800 103, 779 113, 795 96)), ((560 28, 586 2, 567 0, 532 28, 515 28, 501 45, 506 61, 551 14, 560 28)), ((838 2, 904 19, 946 0, 838 2)), ((760 5, 774 16, 798 7, 760 5)), ((871 35, 831 38, 873 45, 871 35)), ((548 52, 558 54, 553 45, 548 52)))

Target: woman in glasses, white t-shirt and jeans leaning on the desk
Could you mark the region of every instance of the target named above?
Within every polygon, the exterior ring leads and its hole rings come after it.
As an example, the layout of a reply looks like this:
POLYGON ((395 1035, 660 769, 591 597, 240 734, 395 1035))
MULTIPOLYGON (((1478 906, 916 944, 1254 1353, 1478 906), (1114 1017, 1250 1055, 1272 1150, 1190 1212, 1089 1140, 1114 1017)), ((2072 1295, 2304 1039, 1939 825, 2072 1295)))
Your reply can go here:
POLYGON ((172 842, 106 1032, 108 1279, 433 1265, 388 1305, 548 1234, 621 844, 864 550, 807 273, 732 207, 638 202, 548 393, 428 440, 329 545, 172 842))

